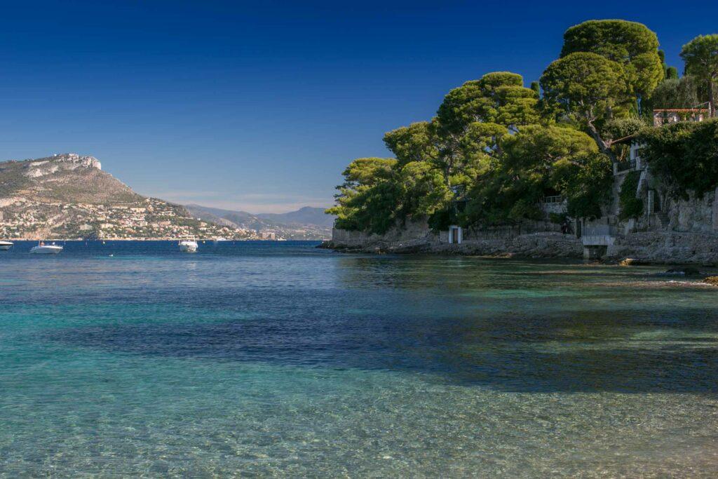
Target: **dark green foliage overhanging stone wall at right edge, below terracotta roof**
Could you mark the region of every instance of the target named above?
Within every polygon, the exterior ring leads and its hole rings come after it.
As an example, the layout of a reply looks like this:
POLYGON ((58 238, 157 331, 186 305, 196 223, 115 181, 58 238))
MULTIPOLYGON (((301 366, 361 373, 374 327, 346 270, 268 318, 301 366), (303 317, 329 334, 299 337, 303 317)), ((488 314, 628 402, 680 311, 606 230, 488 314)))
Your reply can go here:
POLYGON ((682 122, 645 131, 641 154, 678 197, 702 197, 718 186, 718 120, 682 122))

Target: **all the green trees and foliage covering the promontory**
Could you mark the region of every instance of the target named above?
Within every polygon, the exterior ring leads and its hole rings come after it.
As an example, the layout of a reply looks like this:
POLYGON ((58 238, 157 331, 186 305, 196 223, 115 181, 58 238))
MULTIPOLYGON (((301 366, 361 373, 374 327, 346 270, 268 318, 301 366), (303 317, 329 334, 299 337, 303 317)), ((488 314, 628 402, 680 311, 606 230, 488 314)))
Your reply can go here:
MULTIPOLYGON (((612 162, 629 151, 628 141, 615 140, 633 136, 648 145, 652 171, 677 192, 710 191, 718 185, 716 123, 656 130, 638 116, 639 106, 645 114, 709 98, 708 70, 696 65, 712 56, 689 45, 683 52, 689 74, 679 79, 665 65, 656 34, 642 24, 572 27, 559 60, 531 88, 516 73, 488 73, 450 90, 431 121, 389 131, 384 142, 395 158, 352 162, 327 211, 337 215, 337 228, 385 233, 426 218, 437 231, 452 223, 542 220, 544 197, 561 195, 567 215, 600 218, 610 202, 612 162)), ((638 176, 629 173, 622 218, 643 213, 637 186, 638 176)), ((563 223, 567 215, 551 220, 563 223)))

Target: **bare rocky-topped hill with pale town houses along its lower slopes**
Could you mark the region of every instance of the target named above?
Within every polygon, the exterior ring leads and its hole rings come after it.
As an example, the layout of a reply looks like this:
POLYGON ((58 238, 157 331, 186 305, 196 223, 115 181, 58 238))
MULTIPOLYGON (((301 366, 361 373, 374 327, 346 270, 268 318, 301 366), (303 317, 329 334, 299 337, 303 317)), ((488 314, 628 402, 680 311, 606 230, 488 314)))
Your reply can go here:
POLYGON ((283 240, 314 235, 302 225, 248 228, 196 218, 182 205, 138 195, 103 172, 94 157, 68 153, 0 163, 0 238, 283 240))

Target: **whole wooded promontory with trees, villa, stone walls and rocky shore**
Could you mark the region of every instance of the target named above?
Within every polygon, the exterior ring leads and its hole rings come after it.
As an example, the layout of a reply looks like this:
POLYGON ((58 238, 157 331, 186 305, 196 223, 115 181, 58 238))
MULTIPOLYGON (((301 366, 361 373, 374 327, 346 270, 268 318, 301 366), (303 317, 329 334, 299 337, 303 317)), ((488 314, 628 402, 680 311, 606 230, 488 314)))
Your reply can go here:
POLYGON ((681 58, 679 78, 645 25, 591 20, 529 87, 467 81, 348 165, 325 246, 718 264, 718 34, 681 58))

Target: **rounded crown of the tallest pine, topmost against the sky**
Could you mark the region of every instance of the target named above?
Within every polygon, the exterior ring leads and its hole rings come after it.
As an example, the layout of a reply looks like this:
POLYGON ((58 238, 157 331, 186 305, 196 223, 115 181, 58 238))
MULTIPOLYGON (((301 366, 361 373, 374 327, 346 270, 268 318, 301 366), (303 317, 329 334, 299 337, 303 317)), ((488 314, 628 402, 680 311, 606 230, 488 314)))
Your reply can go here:
POLYGON ((561 57, 592 52, 623 65, 631 93, 648 96, 663 80, 658 37, 645 25, 625 20, 589 20, 567 29, 561 57))

